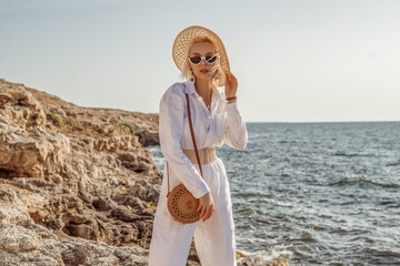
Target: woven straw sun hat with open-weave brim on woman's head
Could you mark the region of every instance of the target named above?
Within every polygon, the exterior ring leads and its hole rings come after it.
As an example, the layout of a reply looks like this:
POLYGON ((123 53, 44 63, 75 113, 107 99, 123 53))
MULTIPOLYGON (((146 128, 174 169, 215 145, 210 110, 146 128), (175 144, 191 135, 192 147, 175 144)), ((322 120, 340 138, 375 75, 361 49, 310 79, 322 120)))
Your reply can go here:
POLYGON ((210 31, 209 29, 206 29, 200 25, 191 25, 191 27, 182 30, 177 35, 177 38, 173 42, 173 47, 172 47, 173 62, 177 64, 177 66, 180 71, 183 70, 183 65, 187 61, 189 44, 196 37, 208 37, 216 45, 217 52, 220 54, 219 69, 222 72, 222 74, 218 79, 217 85, 223 86, 224 79, 226 79, 224 73, 230 72, 229 60, 228 60, 227 51, 223 47, 221 39, 214 32, 210 31))

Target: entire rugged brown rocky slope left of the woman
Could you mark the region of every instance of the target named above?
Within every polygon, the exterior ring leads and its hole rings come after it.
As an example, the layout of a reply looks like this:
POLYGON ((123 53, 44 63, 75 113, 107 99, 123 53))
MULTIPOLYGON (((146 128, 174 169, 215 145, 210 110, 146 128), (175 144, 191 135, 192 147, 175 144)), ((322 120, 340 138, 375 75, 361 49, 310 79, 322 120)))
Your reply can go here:
POLYGON ((158 115, 0 80, 0 265, 147 265, 158 115))

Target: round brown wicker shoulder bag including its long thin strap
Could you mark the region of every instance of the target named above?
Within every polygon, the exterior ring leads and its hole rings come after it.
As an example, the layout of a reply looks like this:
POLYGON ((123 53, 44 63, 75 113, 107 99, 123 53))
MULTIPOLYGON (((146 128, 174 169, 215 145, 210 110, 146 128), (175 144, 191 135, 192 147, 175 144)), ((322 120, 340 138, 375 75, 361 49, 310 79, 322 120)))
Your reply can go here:
MULTIPOLYGON (((184 85, 184 84, 183 84, 184 85)), ((190 115, 190 104, 189 104, 189 96, 186 93, 187 98, 187 106, 188 106, 188 117, 189 117, 189 125, 190 125, 190 133, 193 141, 193 146, 196 151, 196 157, 200 167, 201 177, 203 177, 201 163, 199 157, 199 152, 197 150, 194 133, 193 133, 193 125, 190 115)), ((171 214, 172 218, 177 222, 182 224, 192 224, 200 219, 200 212, 196 212, 199 206, 200 200, 196 198, 193 194, 191 194, 188 188, 183 184, 177 185, 171 192, 169 188, 169 165, 167 161, 167 175, 168 175, 168 194, 167 194, 167 204, 168 211, 171 214)))

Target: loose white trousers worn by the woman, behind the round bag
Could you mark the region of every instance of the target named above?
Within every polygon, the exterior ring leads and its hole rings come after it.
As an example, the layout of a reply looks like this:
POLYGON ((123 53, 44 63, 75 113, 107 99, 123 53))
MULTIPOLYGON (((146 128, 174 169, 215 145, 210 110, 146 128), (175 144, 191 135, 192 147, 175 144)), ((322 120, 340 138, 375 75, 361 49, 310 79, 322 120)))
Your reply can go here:
MULTIPOLYGON (((194 165, 198 171, 198 165, 194 165)), ((232 203, 224 165, 220 158, 202 165, 211 190, 216 212, 209 219, 181 224, 168 212, 168 178, 164 167, 160 198, 156 209, 149 252, 149 266, 186 266, 190 245, 194 245, 202 266, 237 266, 232 203)), ((170 191, 182 182, 171 174, 170 191)), ((199 172, 200 173, 200 172, 199 172)))

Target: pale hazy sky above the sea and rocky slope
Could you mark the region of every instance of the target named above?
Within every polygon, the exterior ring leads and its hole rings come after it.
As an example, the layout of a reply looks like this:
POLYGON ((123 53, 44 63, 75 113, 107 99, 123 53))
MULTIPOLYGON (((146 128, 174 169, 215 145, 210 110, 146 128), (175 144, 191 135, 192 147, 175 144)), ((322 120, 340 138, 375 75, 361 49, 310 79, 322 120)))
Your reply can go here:
MULTIPOLYGON (((398 0, 0 0, 0 79, 157 113, 187 27, 222 40, 246 122, 400 121, 398 0)), ((224 88, 219 88, 222 92, 224 88)))

